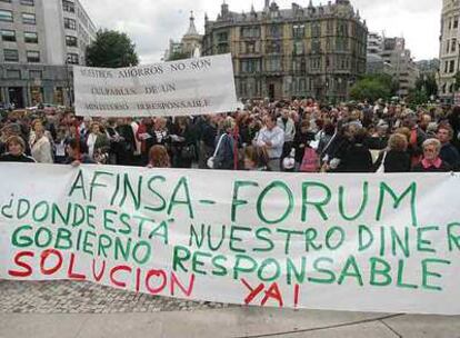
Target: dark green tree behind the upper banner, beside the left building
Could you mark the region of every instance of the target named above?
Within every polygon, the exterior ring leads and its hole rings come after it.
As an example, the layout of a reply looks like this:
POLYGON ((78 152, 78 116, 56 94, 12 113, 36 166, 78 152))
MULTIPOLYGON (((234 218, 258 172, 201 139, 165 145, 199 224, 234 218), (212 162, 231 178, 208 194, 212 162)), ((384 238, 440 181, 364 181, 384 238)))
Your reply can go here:
POLYGON ((136 44, 127 33, 99 30, 96 40, 87 48, 90 67, 122 68, 139 64, 136 44))

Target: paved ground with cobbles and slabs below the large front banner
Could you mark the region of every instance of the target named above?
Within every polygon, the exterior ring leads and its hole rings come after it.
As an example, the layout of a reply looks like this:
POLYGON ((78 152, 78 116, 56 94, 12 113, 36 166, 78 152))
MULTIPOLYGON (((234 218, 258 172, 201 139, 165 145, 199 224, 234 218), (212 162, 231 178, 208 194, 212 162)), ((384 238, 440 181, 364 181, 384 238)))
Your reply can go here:
POLYGON ((13 337, 460 338, 460 317, 262 309, 89 282, 0 281, 0 338, 13 337))

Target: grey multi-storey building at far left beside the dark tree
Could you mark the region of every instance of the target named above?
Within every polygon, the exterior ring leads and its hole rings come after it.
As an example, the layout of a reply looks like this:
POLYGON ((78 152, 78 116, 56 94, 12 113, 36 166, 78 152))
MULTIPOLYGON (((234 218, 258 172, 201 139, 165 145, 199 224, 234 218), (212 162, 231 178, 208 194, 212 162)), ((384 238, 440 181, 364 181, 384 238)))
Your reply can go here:
POLYGON ((0 102, 70 106, 72 67, 96 38, 79 0, 0 1, 0 102))

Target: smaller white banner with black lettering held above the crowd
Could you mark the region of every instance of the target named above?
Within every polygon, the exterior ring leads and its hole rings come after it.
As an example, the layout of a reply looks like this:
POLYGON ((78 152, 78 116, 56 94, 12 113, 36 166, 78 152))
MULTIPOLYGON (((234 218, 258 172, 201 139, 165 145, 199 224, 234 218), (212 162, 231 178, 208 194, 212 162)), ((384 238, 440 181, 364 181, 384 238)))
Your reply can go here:
POLYGON ((78 116, 190 116, 238 107, 231 54, 132 68, 74 67, 78 116))

